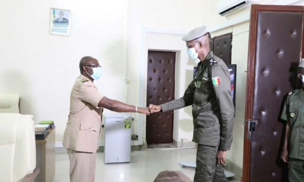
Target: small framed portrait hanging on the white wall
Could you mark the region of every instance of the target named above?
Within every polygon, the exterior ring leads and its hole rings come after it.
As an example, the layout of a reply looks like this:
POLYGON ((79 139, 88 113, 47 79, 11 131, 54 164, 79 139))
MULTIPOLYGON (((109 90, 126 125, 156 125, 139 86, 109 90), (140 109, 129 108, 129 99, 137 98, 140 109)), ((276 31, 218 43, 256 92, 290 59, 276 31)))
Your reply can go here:
POLYGON ((55 35, 70 35, 71 11, 62 9, 50 9, 49 33, 55 35))

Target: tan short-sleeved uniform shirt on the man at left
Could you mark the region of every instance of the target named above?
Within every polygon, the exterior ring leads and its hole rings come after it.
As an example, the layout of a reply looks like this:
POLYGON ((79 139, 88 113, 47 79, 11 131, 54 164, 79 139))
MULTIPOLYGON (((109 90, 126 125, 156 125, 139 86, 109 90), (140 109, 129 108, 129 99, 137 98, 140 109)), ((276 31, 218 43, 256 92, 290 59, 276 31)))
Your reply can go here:
POLYGON ((70 114, 64 131, 63 146, 80 152, 98 149, 102 107, 98 102, 103 95, 92 81, 80 75, 70 97, 70 114))

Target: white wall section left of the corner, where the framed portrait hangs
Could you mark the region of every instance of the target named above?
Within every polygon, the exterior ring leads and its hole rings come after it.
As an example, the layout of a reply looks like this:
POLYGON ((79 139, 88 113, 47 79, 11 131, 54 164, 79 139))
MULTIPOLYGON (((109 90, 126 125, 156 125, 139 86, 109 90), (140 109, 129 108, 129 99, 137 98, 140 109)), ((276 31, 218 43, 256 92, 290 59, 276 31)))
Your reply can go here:
POLYGON ((127 9, 126 0, 2 2, 0 93, 20 94, 20 112, 34 121, 54 120, 61 141, 79 61, 89 55, 102 65, 98 89, 126 102, 127 9), (50 8, 71 10, 70 36, 49 34, 50 8))

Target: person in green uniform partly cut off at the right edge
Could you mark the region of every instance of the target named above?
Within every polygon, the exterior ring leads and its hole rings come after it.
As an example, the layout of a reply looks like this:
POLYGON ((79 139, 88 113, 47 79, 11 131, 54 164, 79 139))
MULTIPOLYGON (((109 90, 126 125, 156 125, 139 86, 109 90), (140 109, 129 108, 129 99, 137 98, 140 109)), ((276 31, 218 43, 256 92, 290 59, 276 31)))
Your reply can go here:
POLYGON ((289 162, 289 182, 304 181, 304 59, 300 61, 298 71, 302 89, 288 94, 281 116, 288 121, 281 159, 289 162))

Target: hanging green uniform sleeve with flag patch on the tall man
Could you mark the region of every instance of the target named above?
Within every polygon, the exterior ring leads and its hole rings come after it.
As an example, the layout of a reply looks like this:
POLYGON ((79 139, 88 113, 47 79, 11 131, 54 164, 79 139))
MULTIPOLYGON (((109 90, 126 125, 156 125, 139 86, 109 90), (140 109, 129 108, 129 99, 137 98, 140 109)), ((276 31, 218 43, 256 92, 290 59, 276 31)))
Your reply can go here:
POLYGON ((212 66, 212 85, 221 111, 220 127, 221 141, 219 149, 230 150, 232 144, 232 129, 234 106, 231 98, 230 74, 226 65, 212 66))

